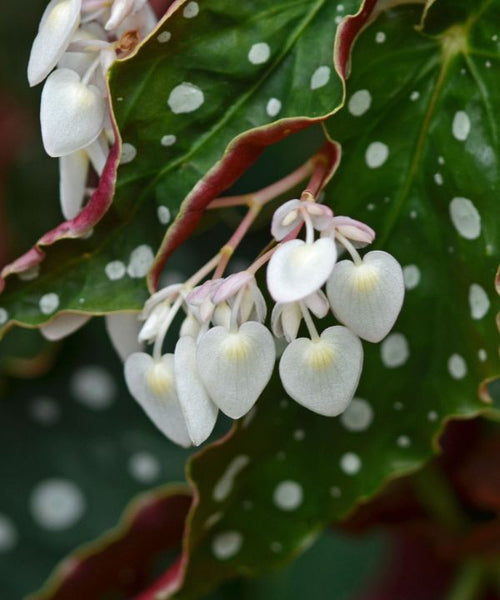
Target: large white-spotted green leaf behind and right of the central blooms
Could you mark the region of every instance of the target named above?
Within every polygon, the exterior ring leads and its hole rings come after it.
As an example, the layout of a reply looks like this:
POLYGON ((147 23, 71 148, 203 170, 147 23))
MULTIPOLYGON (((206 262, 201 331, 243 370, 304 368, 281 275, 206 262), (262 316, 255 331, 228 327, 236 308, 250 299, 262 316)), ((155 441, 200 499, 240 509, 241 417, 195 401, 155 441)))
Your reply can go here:
POLYGON ((286 399, 275 378, 231 436, 191 461, 198 502, 175 598, 290 560, 420 467, 447 419, 487 409, 478 388, 498 371, 499 11, 442 0, 419 32, 421 11, 404 7, 357 41, 346 108, 328 121, 343 157, 326 202, 374 227, 405 267, 403 311, 382 344, 364 344, 362 400, 340 419, 286 399))

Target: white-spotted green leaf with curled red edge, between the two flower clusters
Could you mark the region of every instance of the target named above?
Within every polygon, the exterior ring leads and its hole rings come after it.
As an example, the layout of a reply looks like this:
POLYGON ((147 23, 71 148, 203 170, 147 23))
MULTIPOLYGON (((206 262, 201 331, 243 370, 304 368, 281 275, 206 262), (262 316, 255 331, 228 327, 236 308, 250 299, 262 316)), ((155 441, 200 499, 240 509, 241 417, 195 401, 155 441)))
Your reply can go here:
MULTIPOLYGON (((374 2, 366 4, 338 43, 341 70, 374 2)), ((2 321, 47 322, 54 314, 41 310, 47 294, 57 294, 57 303, 50 305, 57 311, 140 308, 148 295, 144 275, 168 215, 182 218, 172 228, 163 258, 193 230, 207 203, 266 146, 324 119, 341 104, 343 78, 332 64, 337 22, 360 5, 361 0, 347 0, 337 10, 339 3, 326 0, 229 5, 209 0, 195 18, 186 18, 184 3, 175 3, 135 56, 117 63, 110 74, 129 161, 118 169, 112 205, 108 208, 119 144, 81 215, 49 232, 4 270, 10 277, 0 304, 6 311, 2 321), (277 102, 269 104, 272 99, 277 102), (20 281, 14 275, 36 263, 35 279, 20 281)))

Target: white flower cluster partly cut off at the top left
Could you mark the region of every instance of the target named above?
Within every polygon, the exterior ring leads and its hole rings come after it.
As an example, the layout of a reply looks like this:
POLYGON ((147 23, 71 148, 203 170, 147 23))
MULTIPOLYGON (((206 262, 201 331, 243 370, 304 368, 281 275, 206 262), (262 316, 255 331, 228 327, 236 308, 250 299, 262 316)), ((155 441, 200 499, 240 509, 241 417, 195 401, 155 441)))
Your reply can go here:
POLYGON ((42 139, 46 152, 59 158, 66 219, 82 208, 89 166, 101 175, 113 143, 106 73, 155 25, 148 0, 51 0, 43 13, 28 80, 33 86, 47 78, 42 139))

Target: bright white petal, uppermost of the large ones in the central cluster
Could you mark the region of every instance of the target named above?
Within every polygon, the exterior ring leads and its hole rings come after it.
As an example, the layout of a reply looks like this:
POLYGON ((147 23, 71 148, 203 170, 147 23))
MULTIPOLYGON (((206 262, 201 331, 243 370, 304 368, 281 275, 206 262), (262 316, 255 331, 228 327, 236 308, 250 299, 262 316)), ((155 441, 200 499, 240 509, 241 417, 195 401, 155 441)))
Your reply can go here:
POLYGON ((337 260, 331 238, 313 244, 290 240, 280 246, 267 268, 267 287, 276 302, 297 302, 326 282, 337 260))

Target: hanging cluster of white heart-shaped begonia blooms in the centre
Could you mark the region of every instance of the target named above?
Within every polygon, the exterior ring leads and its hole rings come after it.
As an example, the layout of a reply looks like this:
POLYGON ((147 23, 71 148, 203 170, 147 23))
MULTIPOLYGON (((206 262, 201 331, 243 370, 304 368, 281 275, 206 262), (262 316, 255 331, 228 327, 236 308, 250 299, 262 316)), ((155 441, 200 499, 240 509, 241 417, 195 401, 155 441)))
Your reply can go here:
POLYGON ((361 339, 379 342, 399 314, 401 267, 382 251, 360 257, 357 248, 375 237, 364 223, 334 216, 305 192, 276 210, 271 232, 277 245, 245 271, 221 277, 227 262, 221 252, 144 307, 139 338, 154 342, 153 355, 130 355, 125 378, 153 422, 178 444, 202 443, 219 410, 238 419, 253 407, 274 370, 275 338, 287 343, 279 362, 287 393, 318 414, 342 413, 361 375, 361 339), (305 239, 298 239, 303 227, 305 239), (344 250, 350 259, 338 261, 344 250), (255 278, 268 261, 274 336, 265 326, 266 301, 255 278), (214 269, 213 278, 201 283, 214 269), (163 354, 165 335, 181 309, 185 318, 175 351, 163 354), (320 334, 314 319, 331 313, 341 325, 320 334), (307 336, 298 337, 302 324, 307 336))

